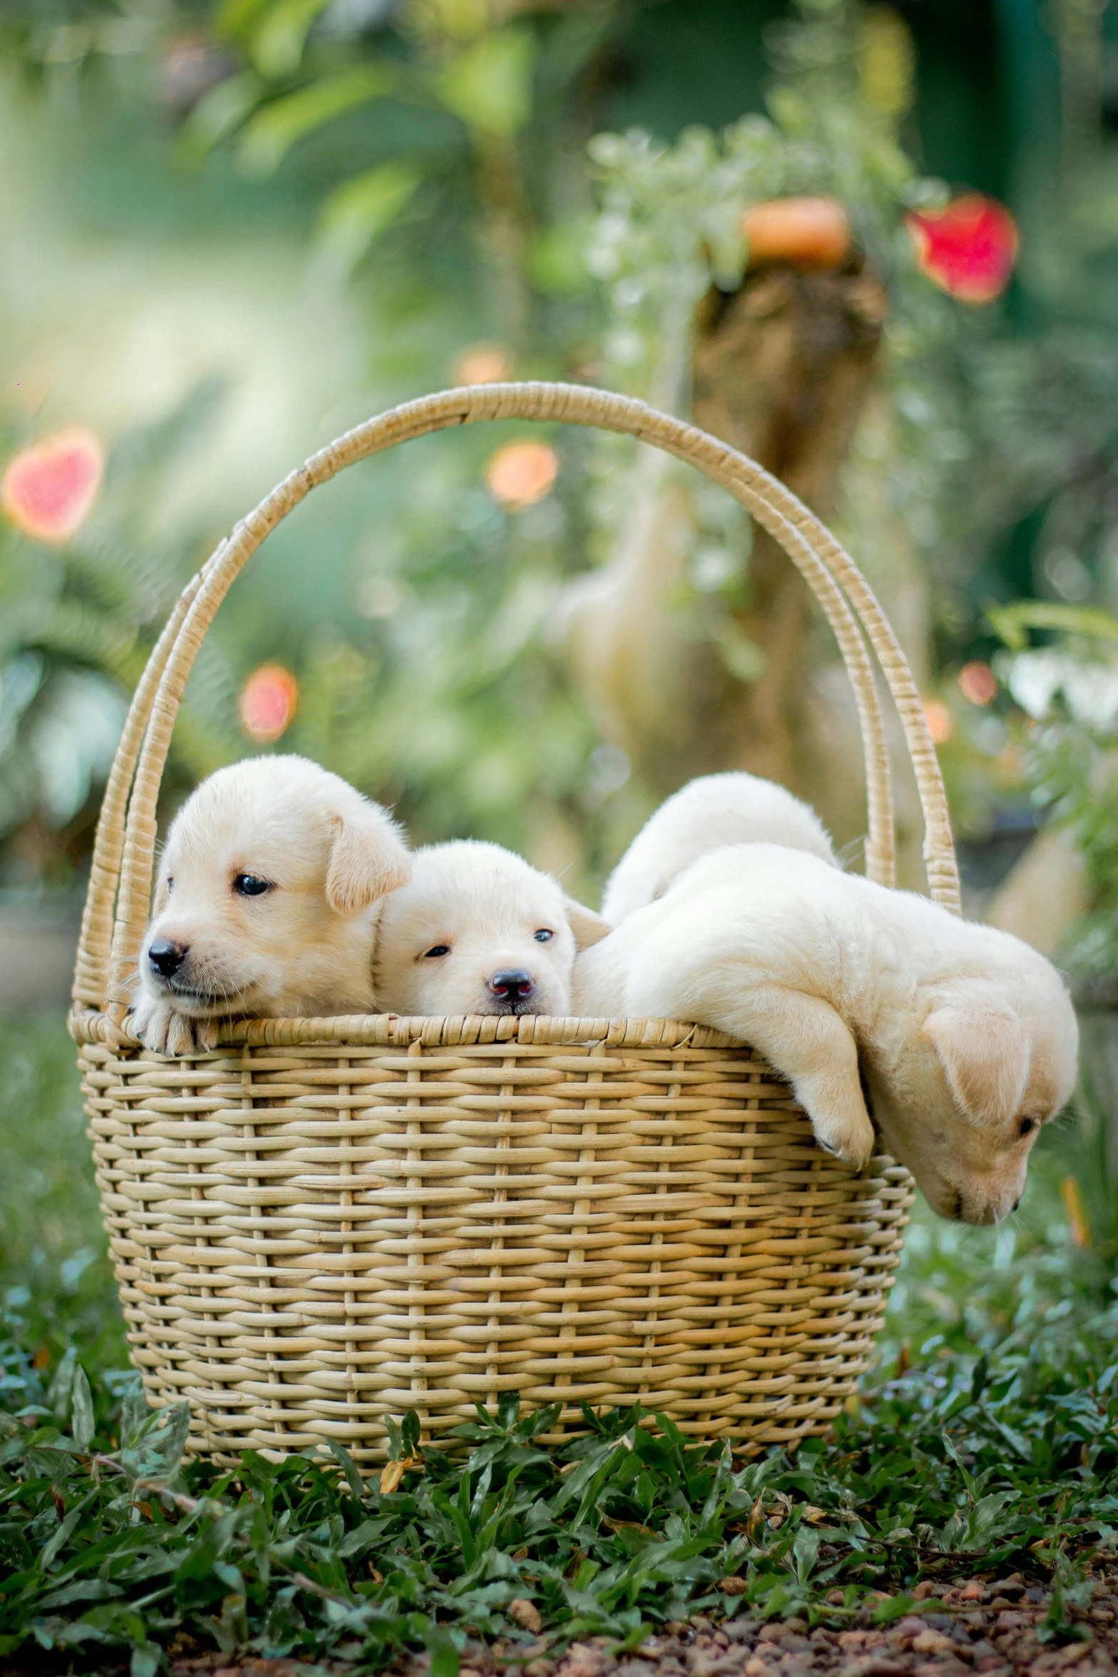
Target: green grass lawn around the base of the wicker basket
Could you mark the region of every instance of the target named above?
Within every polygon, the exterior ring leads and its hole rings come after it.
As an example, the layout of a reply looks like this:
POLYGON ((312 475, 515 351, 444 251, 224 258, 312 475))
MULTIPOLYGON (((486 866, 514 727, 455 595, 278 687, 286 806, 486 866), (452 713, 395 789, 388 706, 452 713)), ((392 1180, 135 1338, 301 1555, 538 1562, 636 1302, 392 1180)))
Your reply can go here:
POLYGON ((1054 1576, 1046 1633, 1068 1635, 1084 1566, 1118 1543, 1111 1218, 1078 1125, 1044 1139, 1002 1229, 920 1212, 862 1399, 793 1454, 736 1461, 635 1412, 587 1414, 555 1452, 548 1417, 510 1404, 461 1429, 464 1461, 406 1424, 396 1457, 419 1464, 386 1494, 344 1451, 221 1474, 181 1466, 181 1417, 126 1372, 72 1045, 54 1020, 3 1025, 0 1657, 131 1650, 144 1677, 183 1633, 360 1667, 426 1642, 451 1677, 468 1627, 531 1643, 513 1602, 560 1643, 632 1645, 711 1610, 892 1617, 920 1578, 991 1568, 1054 1576))

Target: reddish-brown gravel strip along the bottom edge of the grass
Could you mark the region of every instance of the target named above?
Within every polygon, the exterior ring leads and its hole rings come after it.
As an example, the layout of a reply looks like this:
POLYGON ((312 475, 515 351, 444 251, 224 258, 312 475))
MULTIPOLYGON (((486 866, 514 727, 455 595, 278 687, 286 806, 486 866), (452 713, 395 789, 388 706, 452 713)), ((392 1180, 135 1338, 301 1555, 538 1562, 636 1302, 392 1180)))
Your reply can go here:
MULTIPOLYGON (((1118 1571, 1095 1578, 1091 1605, 1073 1610, 1083 1640, 1039 1642, 1051 1597, 1009 1578, 974 1578, 955 1585, 922 1583, 914 1591, 927 1603, 920 1613, 882 1627, 808 1630, 798 1618, 763 1623, 746 1615, 721 1623, 697 1618, 667 1625, 635 1654, 610 1654, 612 1638, 575 1642, 550 1657, 546 1637, 535 1642, 471 1642, 461 1677, 1098 1677, 1118 1672, 1118 1571)), ((841 1600, 841 1597, 840 1597, 841 1600)), ((727 1603, 729 1605, 729 1603, 727 1603)), ((531 1608, 523 1618, 531 1628, 531 1608)), ((345 1665, 332 1667, 339 1674, 345 1665)), ((318 1667, 322 1670, 322 1667, 318 1667)), ((293 1660, 245 1660, 230 1665, 220 1655, 171 1660, 173 1677, 298 1677, 293 1660)), ((424 1677, 426 1657, 396 1667, 386 1677, 424 1677)))

